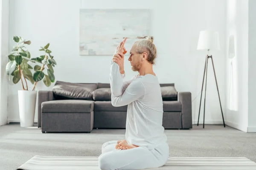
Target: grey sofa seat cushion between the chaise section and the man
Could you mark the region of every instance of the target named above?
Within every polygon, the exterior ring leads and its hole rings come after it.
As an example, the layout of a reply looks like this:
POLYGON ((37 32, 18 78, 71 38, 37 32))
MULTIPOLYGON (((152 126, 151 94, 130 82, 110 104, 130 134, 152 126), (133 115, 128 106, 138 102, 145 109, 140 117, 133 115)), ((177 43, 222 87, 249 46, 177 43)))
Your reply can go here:
POLYGON ((95 101, 94 111, 127 111, 127 105, 114 107, 111 101, 95 101))

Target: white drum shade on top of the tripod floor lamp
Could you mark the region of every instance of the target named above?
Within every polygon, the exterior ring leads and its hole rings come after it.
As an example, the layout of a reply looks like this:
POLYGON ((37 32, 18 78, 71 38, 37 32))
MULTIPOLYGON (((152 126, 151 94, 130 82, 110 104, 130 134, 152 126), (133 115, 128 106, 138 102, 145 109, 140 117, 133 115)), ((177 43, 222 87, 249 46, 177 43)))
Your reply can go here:
POLYGON ((219 50, 220 42, 217 31, 200 31, 198 39, 198 50, 219 50))

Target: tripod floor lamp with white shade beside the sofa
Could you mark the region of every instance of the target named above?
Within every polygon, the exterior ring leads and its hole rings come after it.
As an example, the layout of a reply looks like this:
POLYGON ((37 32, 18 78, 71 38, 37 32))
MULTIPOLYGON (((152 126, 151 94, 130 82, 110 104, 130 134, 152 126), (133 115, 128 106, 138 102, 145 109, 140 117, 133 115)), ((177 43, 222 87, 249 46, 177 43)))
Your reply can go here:
MULTIPOLYGON (((214 71, 214 77, 215 77, 215 82, 217 86, 217 91, 218 91, 218 83, 216 79, 216 74, 215 74, 215 68, 213 64, 213 59, 212 55, 209 55, 209 51, 211 50, 219 50, 220 49, 220 43, 219 43, 219 36, 218 32, 216 31, 201 31, 198 39, 198 50, 207 50, 208 54, 205 59, 205 65, 204 65, 204 77, 205 77, 205 94, 204 94, 204 117, 205 117, 205 98, 206 98, 206 87, 207 87, 207 67, 208 67, 208 60, 212 60, 212 68, 214 71)), ((199 125, 199 116, 200 116, 200 109, 201 109, 201 101, 202 101, 202 94, 203 94, 203 88, 204 88, 204 77, 203 77, 203 84, 202 84, 202 89, 201 89, 201 99, 200 99, 200 106, 199 106, 199 113, 198 113, 198 124, 199 125)), ((221 99, 220 99, 220 94, 218 91, 218 98, 219 102, 221 105, 221 99)), ((223 125, 225 127, 225 122, 224 122, 224 116, 222 112, 222 107, 221 107, 221 114, 222 114, 222 119, 223 119, 223 125)), ((203 123, 203 128, 204 128, 204 123, 203 123)))

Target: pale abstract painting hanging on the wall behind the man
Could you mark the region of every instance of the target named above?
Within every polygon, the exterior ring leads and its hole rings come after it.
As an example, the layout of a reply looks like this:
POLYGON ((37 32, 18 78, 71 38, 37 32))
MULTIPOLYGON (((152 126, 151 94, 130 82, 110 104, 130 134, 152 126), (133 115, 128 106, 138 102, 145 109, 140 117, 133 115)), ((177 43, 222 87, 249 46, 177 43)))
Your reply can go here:
POLYGON ((129 53, 150 28, 150 9, 80 9, 79 54, 113 55, 124 37, 129 53))

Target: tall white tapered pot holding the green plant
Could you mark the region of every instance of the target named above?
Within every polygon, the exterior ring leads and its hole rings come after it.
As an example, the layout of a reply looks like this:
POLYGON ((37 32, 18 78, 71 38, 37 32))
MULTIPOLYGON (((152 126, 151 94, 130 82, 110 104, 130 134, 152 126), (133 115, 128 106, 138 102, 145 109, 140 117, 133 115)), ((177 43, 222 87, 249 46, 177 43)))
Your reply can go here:
POLYGON ((20 127, 32 127, 35 119, 37 91, 18 91, 20 127))

